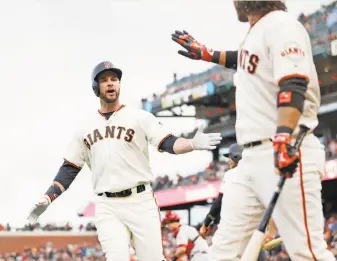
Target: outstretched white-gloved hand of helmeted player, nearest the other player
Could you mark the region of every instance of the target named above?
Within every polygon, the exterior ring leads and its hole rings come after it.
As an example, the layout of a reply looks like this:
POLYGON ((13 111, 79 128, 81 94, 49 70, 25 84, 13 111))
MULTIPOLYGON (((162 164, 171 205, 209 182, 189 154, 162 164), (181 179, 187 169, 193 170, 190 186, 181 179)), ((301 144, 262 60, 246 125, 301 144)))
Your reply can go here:
POLYGON ((191 146, 194 150, 214 150, 221 140, 221 133, 203 133, 203 128, 199 128, 192 139, 191 146))

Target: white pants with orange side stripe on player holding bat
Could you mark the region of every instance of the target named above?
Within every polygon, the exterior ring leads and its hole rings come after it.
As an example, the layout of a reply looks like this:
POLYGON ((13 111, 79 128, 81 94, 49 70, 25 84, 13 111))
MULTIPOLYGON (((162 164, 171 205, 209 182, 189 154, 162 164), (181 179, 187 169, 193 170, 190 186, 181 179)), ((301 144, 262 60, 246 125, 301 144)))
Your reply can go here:
MULTIPOLYGON (((210 260, 240 260, 279 176, 274 171, 272 143, 244 149, 235 177, 225 183, 221 220, 210 247, 210 260)), ((292 261, 335 261, 323 237, 321 174, 325 153, 310 134, 301 147, 301 163, 288 179, 273 219, 292 261)))

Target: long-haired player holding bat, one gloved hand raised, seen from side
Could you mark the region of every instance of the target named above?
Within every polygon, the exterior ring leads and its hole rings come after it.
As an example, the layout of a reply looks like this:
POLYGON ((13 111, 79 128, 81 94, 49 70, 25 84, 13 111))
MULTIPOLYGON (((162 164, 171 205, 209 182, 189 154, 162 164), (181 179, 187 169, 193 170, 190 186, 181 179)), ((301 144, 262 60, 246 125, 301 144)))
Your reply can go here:
POLYGON ((235 182, 224 184, 211 260, 239 260, 268 205, 278 175, 289 177, 273 219, 292 260, 335 260, 323 237, 321 176, 324 148, 318 124, 320 89, 307 31, 283 1, 234 1, 250 29, 238 51, 215 51, 186 31, 172 39, 195 60, 236 69, 236 138, 244 147, 235 182), (299 125, 310 128, 300 151, 289 155, 299 125), (276 174, 277 175, 276 175, 276 174), (290 174, 290 175, 289 175, 290 174))

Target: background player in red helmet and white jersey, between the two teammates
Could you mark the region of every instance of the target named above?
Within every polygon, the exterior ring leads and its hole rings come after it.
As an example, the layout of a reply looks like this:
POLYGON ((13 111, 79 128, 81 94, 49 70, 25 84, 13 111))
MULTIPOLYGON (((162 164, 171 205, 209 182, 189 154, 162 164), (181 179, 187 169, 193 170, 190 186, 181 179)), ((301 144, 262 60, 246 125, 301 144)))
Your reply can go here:
POLYGON ((176 238, 177 249, 172 261, 184 255, 190 261, 207 261, 207 242, 195 227, 182 225, 180 217, 172 211, 166 211, 162 224, 167 225, 176 238))

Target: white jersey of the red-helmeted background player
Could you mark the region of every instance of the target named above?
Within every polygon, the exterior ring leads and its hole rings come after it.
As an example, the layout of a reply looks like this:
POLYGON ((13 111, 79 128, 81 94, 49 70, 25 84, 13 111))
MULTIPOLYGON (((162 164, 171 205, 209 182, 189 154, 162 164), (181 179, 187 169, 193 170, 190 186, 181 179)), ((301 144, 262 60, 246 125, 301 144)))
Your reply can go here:
POLYGON ((206 240, 199 236, 199 232, 195 227, 188 225, 181 225, 179 227, 179 231, 176 235, 176 244, 178 247, 185 246, 188 256, 193 256, 198 252, 207 252, 208 250, 206 240))

